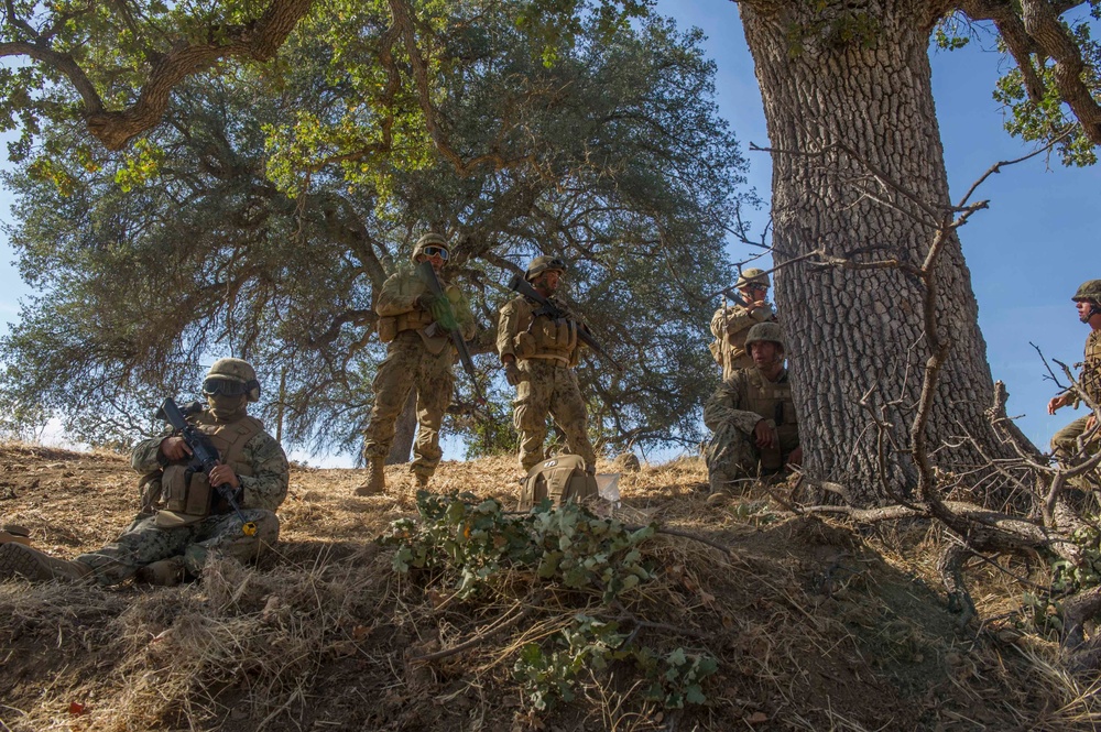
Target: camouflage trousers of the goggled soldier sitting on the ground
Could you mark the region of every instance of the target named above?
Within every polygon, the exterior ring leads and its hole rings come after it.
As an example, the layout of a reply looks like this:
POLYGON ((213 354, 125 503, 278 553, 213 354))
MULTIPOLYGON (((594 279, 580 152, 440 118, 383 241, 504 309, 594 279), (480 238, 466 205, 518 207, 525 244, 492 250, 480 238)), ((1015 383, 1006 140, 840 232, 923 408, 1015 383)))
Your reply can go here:
POLYGON ((118 584, 142 567, 172 557, 183 557, 187 571, 196 576, 211 555, 254 561, 279 539, 279 518, 264 509, 242 509, 241 515, 257 525, 253 536, 242 533, 233 513, 174 528, 157 526, 155 515, 139 516, 115 542, 76 560, 91 567, 100 584, 118 584))

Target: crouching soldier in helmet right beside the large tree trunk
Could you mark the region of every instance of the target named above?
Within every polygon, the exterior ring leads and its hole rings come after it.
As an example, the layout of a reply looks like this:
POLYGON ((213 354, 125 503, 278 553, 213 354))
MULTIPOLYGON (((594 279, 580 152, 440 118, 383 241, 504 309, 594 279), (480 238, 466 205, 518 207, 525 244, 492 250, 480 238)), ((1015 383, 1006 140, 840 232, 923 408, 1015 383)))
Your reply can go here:
POLYGON ((753 326, 745 347, 754 367, 739 369, 723 380, 704 407, 704 424, 715 433, 705 452, 712 493, 739 479, 775 473, 786 465, 803 462, 780 326, 753 326))

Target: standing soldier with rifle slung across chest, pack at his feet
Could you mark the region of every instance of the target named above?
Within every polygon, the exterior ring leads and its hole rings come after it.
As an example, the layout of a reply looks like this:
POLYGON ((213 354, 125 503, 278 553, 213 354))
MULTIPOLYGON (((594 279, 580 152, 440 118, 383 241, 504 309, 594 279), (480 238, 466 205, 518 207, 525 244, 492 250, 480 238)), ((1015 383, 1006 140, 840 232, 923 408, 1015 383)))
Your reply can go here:
POLYGON ((597 454, 588 435, 588 413, 573 367, 580 358, 577 331, 585 324, 555 297, 566 265, 553 256, 536 256, 524 278, 549 299, 565 318, 552 319, 541 306, 523 295, 501 308, 497 350, 509 384, 516 387, 512 420, 520 433, 520 466, 528 472, 544 459, 547 414, 566 434, 566 450, 596 471, 597 454))

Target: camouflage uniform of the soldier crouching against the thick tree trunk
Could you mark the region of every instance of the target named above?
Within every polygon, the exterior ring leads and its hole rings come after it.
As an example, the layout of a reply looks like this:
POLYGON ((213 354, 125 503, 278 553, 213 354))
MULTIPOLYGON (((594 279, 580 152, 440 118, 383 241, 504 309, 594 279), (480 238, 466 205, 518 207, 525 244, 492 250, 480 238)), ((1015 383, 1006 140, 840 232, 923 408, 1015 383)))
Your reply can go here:
POLYGON ((734 371, 704 406, 704 424, 715 433, 705 450, 712 492, 741 478, 780 471, 799 446, 787 369, 776 381, 756 368, 734 371), (754 429, 761 419, 775 427, 780 449, 755 445, 754 429))

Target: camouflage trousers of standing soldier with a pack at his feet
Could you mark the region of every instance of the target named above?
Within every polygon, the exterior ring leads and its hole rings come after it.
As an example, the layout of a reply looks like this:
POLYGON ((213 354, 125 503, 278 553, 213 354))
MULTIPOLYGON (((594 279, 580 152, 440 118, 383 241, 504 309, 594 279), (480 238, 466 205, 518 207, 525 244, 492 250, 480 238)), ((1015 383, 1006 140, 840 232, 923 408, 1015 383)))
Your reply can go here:
POLYGON ((513 402, 512 424, 520 433, 520 467, 526 473, 544 459, 547 415, 566 435, 566 451, 579 455, 595 469, 597 454, 589 441, 589 415, 574 370, 550 359, 519 362, 520 383, 513 402))

